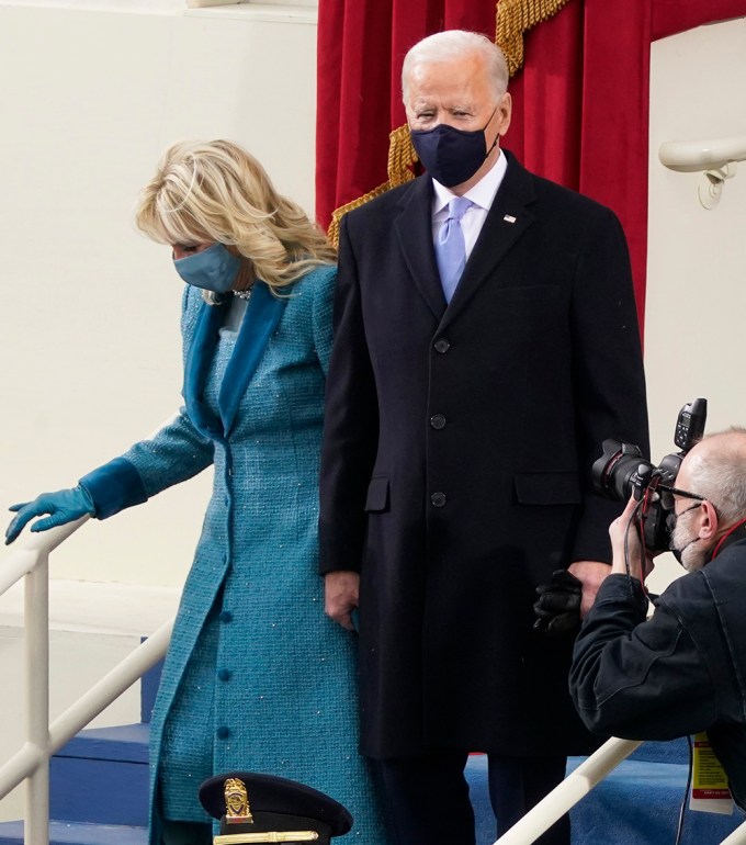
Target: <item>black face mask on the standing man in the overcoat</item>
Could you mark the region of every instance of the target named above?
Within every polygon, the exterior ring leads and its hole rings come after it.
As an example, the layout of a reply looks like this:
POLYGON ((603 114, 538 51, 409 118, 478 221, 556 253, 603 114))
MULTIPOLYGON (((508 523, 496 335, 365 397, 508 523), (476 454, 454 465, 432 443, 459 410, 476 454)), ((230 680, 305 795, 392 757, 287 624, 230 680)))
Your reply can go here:
POLYGON ((444 123, 432 129, 410 129, 411 143, 428 173, 445 188, 468 181, 499 140, 500 136, 497 135, 493 146, 487 149, 485 129, 495 112, 489 115, 484 128, 473 132, 456 129, 444 123))

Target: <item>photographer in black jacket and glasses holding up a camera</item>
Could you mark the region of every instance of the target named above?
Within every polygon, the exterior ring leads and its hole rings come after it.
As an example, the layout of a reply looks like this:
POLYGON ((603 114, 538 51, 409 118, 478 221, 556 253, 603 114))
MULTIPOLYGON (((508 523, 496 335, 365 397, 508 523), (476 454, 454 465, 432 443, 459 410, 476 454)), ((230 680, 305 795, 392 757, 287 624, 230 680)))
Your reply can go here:
POLYGON ((746 808, 746 429, 712 435, 683 459, 671 550, 688 571, 654 599, 631 499, 609 533, 611 574, 575 644, 570 692, 586 725, 632 740, 707 731, 746 808), (629 565, 629 570, 628 570, 629 565))

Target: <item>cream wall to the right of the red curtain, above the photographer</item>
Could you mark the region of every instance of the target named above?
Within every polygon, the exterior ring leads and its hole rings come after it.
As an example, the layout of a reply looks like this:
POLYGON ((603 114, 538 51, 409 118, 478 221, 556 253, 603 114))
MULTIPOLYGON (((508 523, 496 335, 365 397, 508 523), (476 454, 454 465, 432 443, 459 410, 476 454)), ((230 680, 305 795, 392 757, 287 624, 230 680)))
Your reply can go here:
MULTIPOLYGON (((676 416, 697 396, 708 431, 746 425, 746 164, 705 211, 702 177, 658 161, 666 140, 746 135, 744 90, 746 19, 653 44, 645 367, 656 462, 675 451, 676 416)), ((681 574, 667 557, 660 585, 681 574)))

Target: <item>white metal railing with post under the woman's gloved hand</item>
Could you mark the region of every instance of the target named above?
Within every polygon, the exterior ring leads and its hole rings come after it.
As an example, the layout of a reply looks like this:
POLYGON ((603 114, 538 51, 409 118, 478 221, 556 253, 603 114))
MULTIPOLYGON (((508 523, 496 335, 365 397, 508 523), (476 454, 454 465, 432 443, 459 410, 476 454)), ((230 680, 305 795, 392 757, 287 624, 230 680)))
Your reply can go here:
POLYGON ((88 519, 30 533, 0 568, 0 595, 25 578, 25 736, 0 766, 0 799, 26 780, 25 845, 49 845, 49 757, 166 654, 173 627, 161 626, 49 724, 49 553, 88 519))

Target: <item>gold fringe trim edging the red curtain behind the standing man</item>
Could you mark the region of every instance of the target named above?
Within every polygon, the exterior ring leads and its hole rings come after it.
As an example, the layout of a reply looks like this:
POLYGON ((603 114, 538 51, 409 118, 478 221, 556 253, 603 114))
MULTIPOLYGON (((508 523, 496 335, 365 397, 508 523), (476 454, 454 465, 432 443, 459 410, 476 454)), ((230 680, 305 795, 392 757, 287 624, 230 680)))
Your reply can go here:
MULTIPOLYGON (((496 13, 495 43, 505 54, 510 76, 523 65, 523 33, 538 23, 555 15, 568 0, 499 0, 496 13)), ((388 181, 369 191, 363 196, 337 209, 331 215, 328 236, 335 248, 339 246, 339 222, 353 209, 369 200, 381 196, 415 178, 414 165, 417 154, 411 144, 409 126, 405 123, 388 136, 388 181)))

